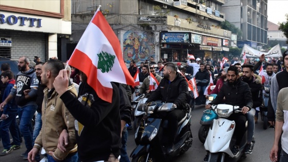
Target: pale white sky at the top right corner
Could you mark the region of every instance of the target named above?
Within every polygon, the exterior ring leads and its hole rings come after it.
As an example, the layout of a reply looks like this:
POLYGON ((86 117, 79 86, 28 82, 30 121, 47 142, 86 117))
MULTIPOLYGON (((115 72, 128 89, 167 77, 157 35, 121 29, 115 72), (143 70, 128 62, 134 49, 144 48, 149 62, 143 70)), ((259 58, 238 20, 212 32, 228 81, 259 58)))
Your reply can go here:
POLYGON ((286 22, 287 7, 288 0, 268 0, 268 21, 275 24, 286 22))

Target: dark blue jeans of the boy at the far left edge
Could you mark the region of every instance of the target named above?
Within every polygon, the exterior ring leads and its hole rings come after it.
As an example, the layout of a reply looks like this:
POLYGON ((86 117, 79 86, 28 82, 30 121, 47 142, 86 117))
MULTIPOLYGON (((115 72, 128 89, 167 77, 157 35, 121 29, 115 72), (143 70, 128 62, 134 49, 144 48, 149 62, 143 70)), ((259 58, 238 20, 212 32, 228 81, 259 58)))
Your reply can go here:
POLYGON ((8 112, 9 117, 1 122, 0 131, 4 149, 10 149, 10 134, 13 138, 14 145, 20 146, 20 138, 17 131, 16 115, 17 112, 8 112))

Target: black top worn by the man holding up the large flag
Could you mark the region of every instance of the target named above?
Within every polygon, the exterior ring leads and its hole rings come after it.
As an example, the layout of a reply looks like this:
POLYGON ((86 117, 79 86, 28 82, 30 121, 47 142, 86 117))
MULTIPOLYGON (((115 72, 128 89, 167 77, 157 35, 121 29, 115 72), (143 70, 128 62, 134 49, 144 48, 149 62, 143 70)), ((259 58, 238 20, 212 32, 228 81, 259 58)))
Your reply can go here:
POLYGON ((116 157, 120 155, 120 98, 118 87, 111 84, 112 103, 100 99, 86 82, 79 86, 80 101, 68 91, 60 97, 69 112, 83 124, 75 131, 81 161, 106 161, 111 153, 116 157))

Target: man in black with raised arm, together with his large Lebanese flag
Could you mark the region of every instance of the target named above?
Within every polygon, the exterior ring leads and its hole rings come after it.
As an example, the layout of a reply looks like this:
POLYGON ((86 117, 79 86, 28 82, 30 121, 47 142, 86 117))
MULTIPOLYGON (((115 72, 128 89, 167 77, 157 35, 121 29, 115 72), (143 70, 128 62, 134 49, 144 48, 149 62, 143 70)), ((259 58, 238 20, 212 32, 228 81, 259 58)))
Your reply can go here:
MULTIPOLYGON (((132 86, 135 83, 123 61, 119 40, 99 8, 67 64, 81 71, 79 98, 67 92, 66 70, 60 71, 53 85, 76 119, 74 125, 80 160, 118 162, 121 147, 120 97, 118 87, 112 82, 132 86)), ((63 130, 59 137, 58 148, 62 151, 69 141, 66 134, 67 131, 63 130)))

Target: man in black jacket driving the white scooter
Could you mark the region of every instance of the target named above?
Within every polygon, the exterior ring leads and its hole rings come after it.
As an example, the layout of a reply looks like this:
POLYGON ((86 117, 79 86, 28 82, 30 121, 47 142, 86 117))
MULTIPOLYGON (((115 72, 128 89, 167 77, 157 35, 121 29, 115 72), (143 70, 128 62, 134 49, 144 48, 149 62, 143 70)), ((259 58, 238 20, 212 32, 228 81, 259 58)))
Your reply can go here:
POLYGON ((217 97, 207 104, 205 108, 210 109, 212 104, 221 103, 224 97, 226 104, 242 107, 242 113, 231 114, 228 118, 229 120, 235 120, 237 125, 234 133, 236 134, 236 145, 231 150, 234 155, 237 155, 239 153, 240 142, 245 133, 245 123, 247 120, 245 114, 253 107, 253 100, 249 85, 239 79, 237 67, 230 66, 227 77, 228 82, 223 84, 217 97))

